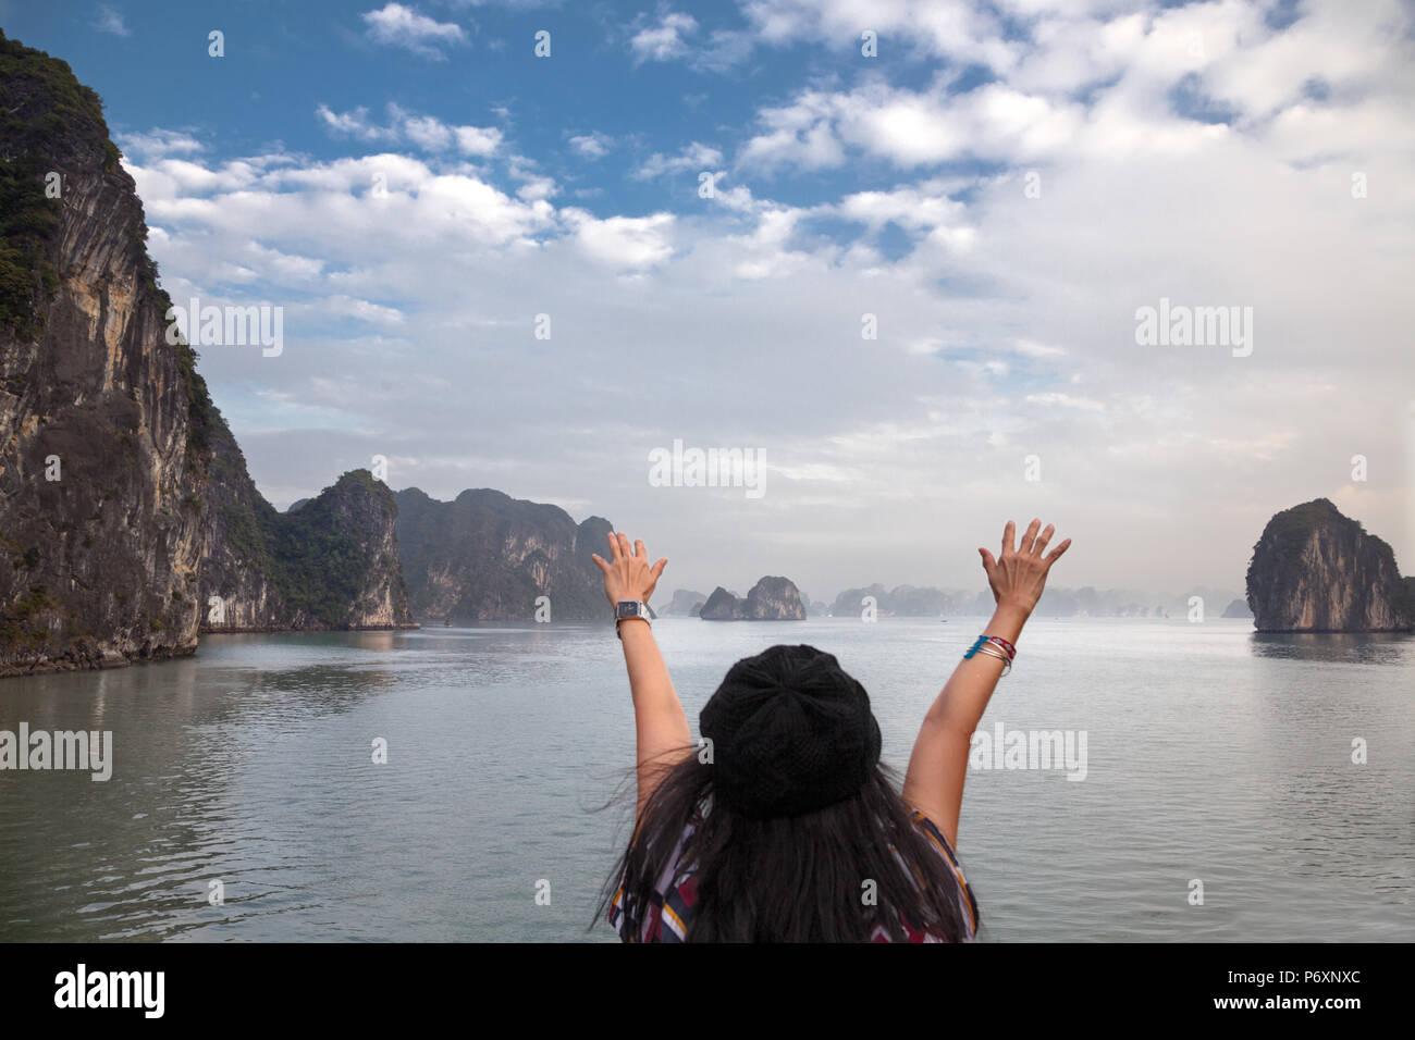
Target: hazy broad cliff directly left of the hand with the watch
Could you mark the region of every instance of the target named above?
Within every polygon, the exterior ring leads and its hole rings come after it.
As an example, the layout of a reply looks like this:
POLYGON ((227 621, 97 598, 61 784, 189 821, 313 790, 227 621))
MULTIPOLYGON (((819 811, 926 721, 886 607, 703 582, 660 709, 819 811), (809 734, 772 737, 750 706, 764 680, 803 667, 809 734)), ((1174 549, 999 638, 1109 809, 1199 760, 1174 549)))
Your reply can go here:
POLYGON ((576 524, 558 505, 490 488, 463 491, 451 502, 419 488, 396 498, 398 545, 416 617, 529 621, 542 596, 549 597, 550 621, 610 617, 604 576, 590 559, 608 552, 607 519, 576 524))

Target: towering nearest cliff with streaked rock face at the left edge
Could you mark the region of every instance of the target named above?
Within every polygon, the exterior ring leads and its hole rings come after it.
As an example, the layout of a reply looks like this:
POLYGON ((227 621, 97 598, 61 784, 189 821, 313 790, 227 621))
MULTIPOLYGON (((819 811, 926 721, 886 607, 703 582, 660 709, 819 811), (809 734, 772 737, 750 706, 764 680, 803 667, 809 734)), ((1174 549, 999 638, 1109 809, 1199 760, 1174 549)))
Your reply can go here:
POLYGON ((197 645, 209 399, 98 95, 0 33, 0 674, 197 645))

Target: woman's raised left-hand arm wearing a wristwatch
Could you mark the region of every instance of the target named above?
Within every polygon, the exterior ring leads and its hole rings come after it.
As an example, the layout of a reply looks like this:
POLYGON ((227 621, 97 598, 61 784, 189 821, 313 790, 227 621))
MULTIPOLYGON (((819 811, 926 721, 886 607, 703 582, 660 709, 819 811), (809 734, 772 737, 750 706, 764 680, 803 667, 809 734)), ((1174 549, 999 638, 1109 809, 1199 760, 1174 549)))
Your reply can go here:
MULTIPOLYGON (((624 600, 641 600, 647 604, 659 574, 668 566, 665 559, 649 567, 642 542, 634 542, 631 552, 628 535, 613 532, 610 559, 594 556, 594 563, 604 572, 604 594, 611 607, 624 600)), ((618 623, 618 630, 624 641, 628 689, 634 698, 634 732, 638 741, 635 753, 638 808, 634 814, 637 818, 664 771, 692 754, 693 734, 648 621, 637 617, 624 618, 618 623)))

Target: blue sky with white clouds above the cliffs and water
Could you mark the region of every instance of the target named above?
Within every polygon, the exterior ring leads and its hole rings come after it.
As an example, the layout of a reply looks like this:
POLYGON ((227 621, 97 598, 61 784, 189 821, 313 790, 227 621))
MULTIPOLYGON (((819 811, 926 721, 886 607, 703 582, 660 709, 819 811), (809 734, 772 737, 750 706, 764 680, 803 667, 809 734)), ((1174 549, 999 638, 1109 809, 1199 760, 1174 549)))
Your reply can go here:
POLYGON ((395 490, 606 516, 666 590, 829 600, 981 589, 978 546, 1032 516, 1074 539, 1053 584, 1241 591, 1268 518, 1327 497, 1415 573, 1409 4, 0 0, 0 27, 102 95, 174 301, 280 308, 279 352, 200 345, 277 507, 381 457, 395 490), (655 477, 675 441, 760 475, 655 477))

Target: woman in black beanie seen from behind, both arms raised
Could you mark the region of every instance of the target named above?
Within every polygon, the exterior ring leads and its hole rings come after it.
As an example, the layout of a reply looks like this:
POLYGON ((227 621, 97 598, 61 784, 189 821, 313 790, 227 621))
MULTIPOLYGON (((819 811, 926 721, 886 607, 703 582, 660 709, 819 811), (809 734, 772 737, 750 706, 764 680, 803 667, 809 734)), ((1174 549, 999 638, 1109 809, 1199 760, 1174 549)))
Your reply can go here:
POLYGON ((865 689, 829 654, 739 661, 699 715, 654 642, 647 603, 668 560, 611 533, 594 556, 624 642, 638 739, 634 836, 600 910, 627 942, 968 941, 978 904, 954 856, 968 749, 1013 644, 1071 545, 1034 519, 979 549, 996 611, 924 716, 903 791, 880 765, 865 689), (613 893, 610 891, 613 889, 613 893))

